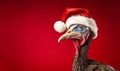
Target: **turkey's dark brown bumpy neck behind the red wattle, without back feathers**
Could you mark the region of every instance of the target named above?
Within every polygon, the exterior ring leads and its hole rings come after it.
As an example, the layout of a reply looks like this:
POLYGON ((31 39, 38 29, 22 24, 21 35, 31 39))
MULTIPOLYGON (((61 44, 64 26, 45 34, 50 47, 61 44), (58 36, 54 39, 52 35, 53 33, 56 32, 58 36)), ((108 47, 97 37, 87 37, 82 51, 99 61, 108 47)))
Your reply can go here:
POLYGON ((73 71, 84 71, 84 69, 87 67, 87 53, 88 53, 88 48, 90 45, 90 42, 92 40, 93 33, 90 32, 90 36, 88 40, 85 42, 84 45, 80 46, 78 50, 78 56, 75 55, 74 57, 74 63, 73 63, 73 71))

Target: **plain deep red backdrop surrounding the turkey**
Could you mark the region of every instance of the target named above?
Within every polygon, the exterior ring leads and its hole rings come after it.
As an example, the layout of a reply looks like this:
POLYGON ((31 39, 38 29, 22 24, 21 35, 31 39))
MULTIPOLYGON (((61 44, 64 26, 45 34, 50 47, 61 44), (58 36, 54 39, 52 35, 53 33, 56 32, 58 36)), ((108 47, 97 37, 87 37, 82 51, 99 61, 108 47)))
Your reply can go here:
POLYGON ((72 41, 54 31, 66 7, 91 11, 99 27, 89 57, 120 70, 119 0, 1 0, 0 71, 72 71, 72 41))

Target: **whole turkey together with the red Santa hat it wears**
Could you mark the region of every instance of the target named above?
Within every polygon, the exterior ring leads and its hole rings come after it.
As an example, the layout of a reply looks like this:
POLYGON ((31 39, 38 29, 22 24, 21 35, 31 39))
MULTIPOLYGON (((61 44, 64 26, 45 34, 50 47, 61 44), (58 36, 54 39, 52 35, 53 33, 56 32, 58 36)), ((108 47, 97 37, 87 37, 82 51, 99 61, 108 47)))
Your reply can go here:
POLYGON ((58 42, 70 39, 75 46, 73 71, 117 71, 112 66, 88 58, 88 49, 92 39, 97 38, 98 27, 88 10, 84 8, 67 8, 61 21, 54 24, 57 32, 66 33, 58 42))

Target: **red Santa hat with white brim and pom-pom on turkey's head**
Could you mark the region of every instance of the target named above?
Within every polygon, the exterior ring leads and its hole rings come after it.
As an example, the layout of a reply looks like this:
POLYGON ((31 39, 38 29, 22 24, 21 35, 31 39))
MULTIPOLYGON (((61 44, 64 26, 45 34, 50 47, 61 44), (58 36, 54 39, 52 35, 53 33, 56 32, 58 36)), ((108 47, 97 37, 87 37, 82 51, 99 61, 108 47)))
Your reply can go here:
POLYGON ((88 10, 84 8, 67 8, 60 21, 55 22, 54 29, 62 33, 73 24, 83 24, 91 29, 97 37, 98 27, 88 10))

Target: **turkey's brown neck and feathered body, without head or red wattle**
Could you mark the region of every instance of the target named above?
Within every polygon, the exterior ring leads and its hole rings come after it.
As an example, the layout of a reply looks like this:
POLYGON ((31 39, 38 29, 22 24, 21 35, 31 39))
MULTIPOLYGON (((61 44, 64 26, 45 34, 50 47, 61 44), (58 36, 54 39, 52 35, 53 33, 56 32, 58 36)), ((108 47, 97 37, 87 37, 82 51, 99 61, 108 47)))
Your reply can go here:
POLYGON ((73 71, 117 71, 113 67, 88 59, 88 48, 92 40, 93 33, 90 32, 90 36, 86 43, 79 49, 79 55, 75 55, 73 62, 73 71))

